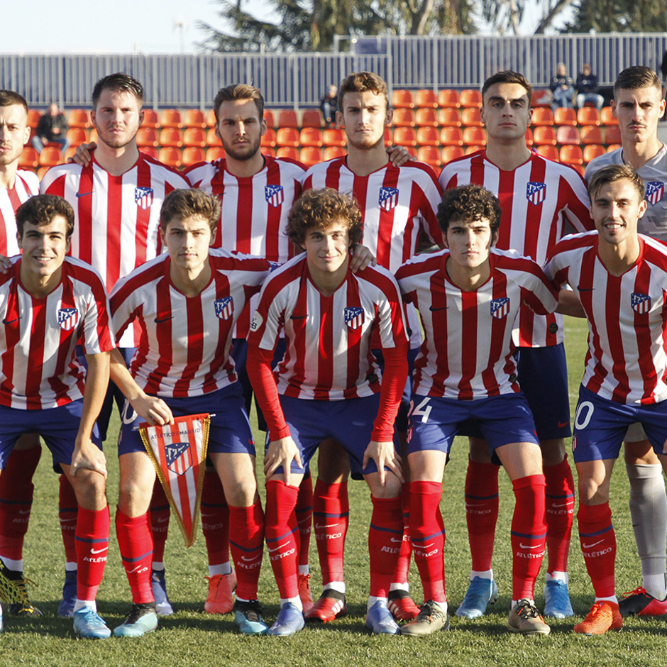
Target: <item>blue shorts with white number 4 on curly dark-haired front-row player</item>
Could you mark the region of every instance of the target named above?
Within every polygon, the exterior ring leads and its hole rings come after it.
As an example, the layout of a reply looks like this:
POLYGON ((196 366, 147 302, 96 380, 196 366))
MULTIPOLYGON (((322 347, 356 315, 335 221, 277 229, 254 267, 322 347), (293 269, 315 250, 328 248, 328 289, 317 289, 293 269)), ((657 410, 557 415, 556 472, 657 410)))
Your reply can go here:
POLYGON ((495 450, 514 442, 539 445, 528 402, 522 394, 503 394, 476 401, 453 398, 413 396, 409 414, 407 453, 437 449, 446 454, 461 426, 479 429, 489 443, 494 463, 495 450))

